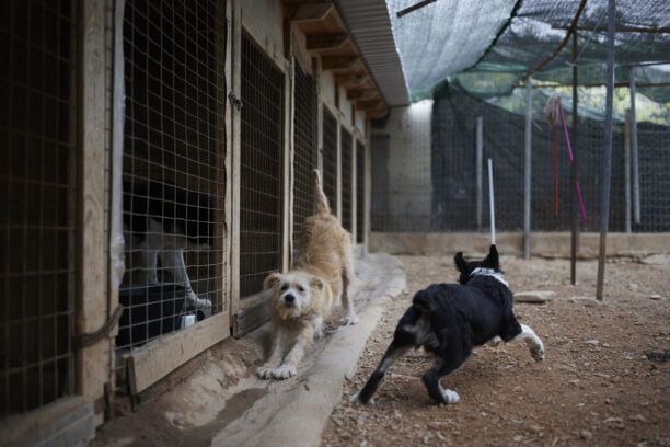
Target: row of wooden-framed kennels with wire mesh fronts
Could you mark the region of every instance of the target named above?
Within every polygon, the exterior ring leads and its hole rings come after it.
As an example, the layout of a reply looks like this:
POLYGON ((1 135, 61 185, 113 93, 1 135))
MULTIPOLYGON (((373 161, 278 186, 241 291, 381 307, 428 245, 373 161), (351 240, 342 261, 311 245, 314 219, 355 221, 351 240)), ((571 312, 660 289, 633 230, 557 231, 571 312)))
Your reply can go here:
POLYGON ((340 11, 312 9, 0 7, 3 439, 90 439, 117 399, 267 321, 263 279, 299 249, 312 169, 360 220, 339 129, 367 141, 386 104, 357 45, 319 34, 350 32, 340 11))

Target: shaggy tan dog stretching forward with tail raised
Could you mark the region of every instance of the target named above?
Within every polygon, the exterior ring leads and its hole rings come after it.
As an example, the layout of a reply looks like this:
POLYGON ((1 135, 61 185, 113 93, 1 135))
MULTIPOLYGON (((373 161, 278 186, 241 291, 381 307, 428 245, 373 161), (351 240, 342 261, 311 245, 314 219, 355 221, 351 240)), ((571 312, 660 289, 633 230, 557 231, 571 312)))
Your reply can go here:
POLYGON ((305 219, 299 240, 299 254, 291 271, 269 275, 263 288, 270 294, 273 347, 267 363, 256 371, 262 379, 287 379, 314 337, 323 333, 324 320, 333 303, 342 299, 343 324, 356 324, 348 293, 354 277, 351 234, 331 214, 321 186, 319 170, 313 171, 315 214, 305 219))

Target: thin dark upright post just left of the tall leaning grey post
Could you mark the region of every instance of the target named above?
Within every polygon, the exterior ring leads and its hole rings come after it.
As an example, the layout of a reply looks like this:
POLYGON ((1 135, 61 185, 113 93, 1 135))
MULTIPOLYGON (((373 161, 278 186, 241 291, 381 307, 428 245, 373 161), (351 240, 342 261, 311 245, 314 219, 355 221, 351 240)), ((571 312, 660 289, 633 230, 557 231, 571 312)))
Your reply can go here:
MULTIPOLYGON (((577 169, 577 152, 579 151, 579 91, 577 90, 579 78, 579 66, 577 53, 577 32, 573 33, 573 167, 570 169, 570 187, 579 182, 579 170, 577 169)), ((579 209, 577 194, 570 194, 570 284, 577 284, 577 251, 579 250, 579 209)))

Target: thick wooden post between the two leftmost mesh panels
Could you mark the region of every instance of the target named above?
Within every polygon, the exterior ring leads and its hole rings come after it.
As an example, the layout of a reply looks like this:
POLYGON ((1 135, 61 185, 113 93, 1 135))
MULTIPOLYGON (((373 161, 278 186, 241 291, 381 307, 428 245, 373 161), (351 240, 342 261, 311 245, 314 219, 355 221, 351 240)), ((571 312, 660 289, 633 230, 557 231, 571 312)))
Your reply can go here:
MULTIPOLYGON (((95 332, 107 320, 107 253, 105 234, 105 137, 109 105, 105 68, 106 1, 84 1, 81 18, 80 151, 78 156, 78 293, 76 333, 95 332)), ((103 337, 77 353, 77 393, 94 401, 104 394, 112 367, 111 340, 103 337)), ((99 421, 102 422, 102 419, 99 421)))

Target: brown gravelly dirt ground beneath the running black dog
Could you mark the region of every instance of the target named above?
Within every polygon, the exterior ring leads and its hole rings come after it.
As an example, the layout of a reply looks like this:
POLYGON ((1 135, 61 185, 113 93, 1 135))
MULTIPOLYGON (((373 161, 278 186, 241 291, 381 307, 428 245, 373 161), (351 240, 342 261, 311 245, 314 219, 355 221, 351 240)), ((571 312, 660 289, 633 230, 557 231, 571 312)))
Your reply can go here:
POLYGON ((324 431, 324 446, 670 446, 670 265, 612 260, 605 300, 594 295, 597 264, 504 257, 512 290, 554 290, 544 305, 516 305, 519 320, 544 341, 532 360, 522 343, 482 347, 442 380, 461 402, 436 405, 420 381, 431 362, 413 352, 396 363, 374 405, 348 397, 363 385, 414 291, 457 278, 450 257, 401 256, 408 294, 396 298, 368 341, 355 378, 324 431))

